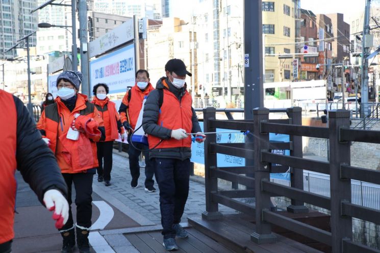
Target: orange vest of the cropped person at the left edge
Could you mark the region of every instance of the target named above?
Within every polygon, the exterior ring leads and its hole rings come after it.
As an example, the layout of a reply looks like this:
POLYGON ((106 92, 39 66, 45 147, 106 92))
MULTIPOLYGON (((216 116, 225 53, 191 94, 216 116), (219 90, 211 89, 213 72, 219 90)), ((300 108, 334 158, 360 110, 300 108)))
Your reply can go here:
POLYGON ((16 197, 16 143, 17 111, 11 94, 0 90, 2 113, 0 113, 0 244, 14 237, 13 220, 16 197))

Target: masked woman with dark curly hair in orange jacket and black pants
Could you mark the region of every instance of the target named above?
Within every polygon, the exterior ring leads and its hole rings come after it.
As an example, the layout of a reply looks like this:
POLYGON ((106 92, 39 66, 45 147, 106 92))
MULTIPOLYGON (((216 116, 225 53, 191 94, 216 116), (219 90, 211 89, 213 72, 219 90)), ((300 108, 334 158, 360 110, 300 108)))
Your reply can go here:
POLYGON ((124 127, 121 125, 115 103, 107 97, 109 93, 108 85, 98 83, 94 86, 92 93, 95 95, 92 103, 95 104, 99 111, 106 131, 106 139, 96 143, 97 160, 99 163, 99 166, 96 168, 97 181, 102 182, 104 180, 105 185, 110 186, 113 141, 119 139, 118 133, 121 134, 121 139, 126 139, 127 135, 124 132, 124 127))

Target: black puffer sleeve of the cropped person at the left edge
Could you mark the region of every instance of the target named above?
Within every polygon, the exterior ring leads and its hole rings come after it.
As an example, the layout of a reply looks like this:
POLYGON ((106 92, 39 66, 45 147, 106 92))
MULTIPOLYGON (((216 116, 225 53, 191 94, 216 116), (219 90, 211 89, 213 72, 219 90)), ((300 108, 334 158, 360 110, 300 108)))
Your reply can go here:
POLYGON ((17 170, 42 204, 44 193, 50 189, 57 189, 66 197, 67 186, 56 157, 41 139, 27 107, 18 98, 13 99, 17 111, 17 170))

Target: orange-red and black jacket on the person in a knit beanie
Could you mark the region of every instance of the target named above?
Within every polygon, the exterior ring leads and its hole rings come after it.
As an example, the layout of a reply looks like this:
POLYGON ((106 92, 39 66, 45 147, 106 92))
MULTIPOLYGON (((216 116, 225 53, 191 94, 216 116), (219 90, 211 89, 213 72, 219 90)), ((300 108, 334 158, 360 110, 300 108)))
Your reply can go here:
POLYGON ((81 133, 78 141, 66 138, 70 124, 75 119, 75 113, 80 113, 82 117, 82 120, 75 120, 75 125, 82 122, 82 127, 85 127, 89 123, 91 126, 87 130, 92 131, 96 130, 98 126, 103 126, 99 112, 88 101, 87 96, 79 93, 77 96, 77 103, 71 112, 61 98, 57 97, 56 103, 45 108, 37 123, 41 134, 50 140, 50 149, 56 155, 62 173, 77 173, 98 166, 95 142, 100 140, 99 132, 81 133), (88 121, 91 119, 93 120, 88 121))

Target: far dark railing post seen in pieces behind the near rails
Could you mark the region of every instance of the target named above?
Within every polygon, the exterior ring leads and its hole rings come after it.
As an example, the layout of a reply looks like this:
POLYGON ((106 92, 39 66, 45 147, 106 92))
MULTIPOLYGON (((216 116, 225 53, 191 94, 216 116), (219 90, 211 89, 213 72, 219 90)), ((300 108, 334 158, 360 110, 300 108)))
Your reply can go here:
MULTIPOLYGON (((302 108, 291 107, 286 110, 289 119, 292 119, 290 124, 302 125, 302 108)), ((302 136, 290 135, 289 141, 293 143, 293 150, 290 150, 291 156, 302 158, 302 136)), ((303 190, 303 170, 290 168, 290 185, 291 187, 303 190)), ((287 211, 290 213, 308 213, 309 209, 303 205, 302 201, 292 199, 291 204, 287 206, 287 211)))

